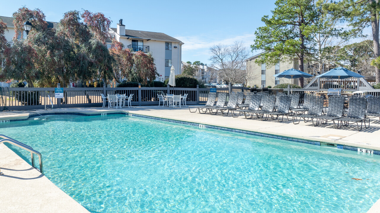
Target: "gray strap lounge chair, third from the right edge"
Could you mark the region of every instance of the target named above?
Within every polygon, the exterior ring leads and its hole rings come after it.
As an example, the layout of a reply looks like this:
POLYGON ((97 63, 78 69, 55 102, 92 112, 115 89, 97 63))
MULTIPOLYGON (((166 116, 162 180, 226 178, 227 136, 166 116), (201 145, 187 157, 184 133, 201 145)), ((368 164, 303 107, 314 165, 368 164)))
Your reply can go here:
MULTIPOLYGON (((319 121, 325 121, 323 124, 327 124, 328 121, 334 121, 343 115, 343 107, 344 107, 344 97, 343 96, 330 96, 329 97, 329 107, 326 115, 313 117, 312 121, 314 124, 314 119, 317 121, 317 125, 319 121)), ((334 128, 335 123, 334 123, 334 128)))

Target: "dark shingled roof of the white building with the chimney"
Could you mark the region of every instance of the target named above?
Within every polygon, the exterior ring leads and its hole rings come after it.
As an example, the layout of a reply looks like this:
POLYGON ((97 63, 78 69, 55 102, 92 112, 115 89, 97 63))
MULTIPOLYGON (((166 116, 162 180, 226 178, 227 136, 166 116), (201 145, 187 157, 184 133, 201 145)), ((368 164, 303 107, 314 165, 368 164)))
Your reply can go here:
MULTIPOLYGON (((111 28, 115 33, 117 33, 117 28, 111 28)), ((165 33, 156 33, 149 31, 141 31, 141 30, 125 30, 125 36, 121 37, 129 37, 129 38, 139 38, 139 39, 152 39, 158 41, 173 41, 173 42, 181 42, 178 39, 175 39, 171 36, 168 36, 165 33)))

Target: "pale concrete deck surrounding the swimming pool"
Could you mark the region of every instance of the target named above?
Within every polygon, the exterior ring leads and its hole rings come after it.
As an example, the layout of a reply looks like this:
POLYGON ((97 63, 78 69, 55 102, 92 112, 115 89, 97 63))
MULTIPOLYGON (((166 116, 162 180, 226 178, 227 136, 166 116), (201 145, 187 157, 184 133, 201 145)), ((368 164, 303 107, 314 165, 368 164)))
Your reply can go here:
MULTIPOLYGON (((204 125, 213 125, 224 128, 234 128, 239 130, 253 131, 258 133, 266 133, 273 135, 280 135, 286 137, 300 138, 300 139, 308 139, 313 141, 319 141, 322 143, 328 144, 342 144, 345 146, 353 146, 360 147, 364 149, 371 150, 380 150, 380 121, 377 119, 372 119, 369 128, 364 128, 361 132, 356 131, 356 125, 349 125, 348 127, 343 127, 340 129, 334 129, 332 124, 327 125, 319 125, 318 127, 313 127, 311 122, 300 122, 297 125, 294 125, 293 122, 287 121, 286 119, 279 123, 277 121, 260 121, 260 119, 244 119, 244 116, 239 116, 238 118, 233 118, 231 116, 215 116, 209 114, 199 114, 199 113, 190 113, 188 108, 168 108, 168 107, 158 107, 158 106, 139 106, 133 108, 122 108, 122 109, 108 109, 101 107, 94 108, 59 108, 53 110, 35 110, 35 111, 5 111, 0 113, 0 121, 8 120, 8 119, 26 119, 30 115, 44 114, 44 113, 86 113, 86 114, 98 114, 98 113, 108 113, 108 112, 125 112, 131 114, 139 114, 144 116, 152 116, 159 117, 164 119, 172 119, 186 122, 194 122, 198 124, 204 125)), ((3 123, 0 125, 6 125, 7 123, 3 123)), ((25 141, 21 141, 25 142, 25 141)), ((27 164, 24 160, 22 160, 18 155, 9 150, 4 145, 1 146, 3 149, 0 149, 0 166, 2 168, 2 172, 5 175, 19 177, 23 175, 22 173, 32 175, 33 172, 40 174, 37 170, 32 169, 32 167, 27 164), (8 154, 6 154, 8 153, 8 154), (13 154, 9 154, 13 153, 13 154), (5 155, 8 155, 8 160, 3 159, 5 155), (22 168, 18 168, 18 164, 23 162, 24 165, 22 168), (4 162, 8 162, 4 164, 4 162), (28 168, 27 168, 28 166, 28 168), (6 169, 14 169, 13 170, 5 170, 6 169), (27 171, 19 171, 25 170, 27 171), (17 176, 18 175, 18 176, 17 176)), ((38 150, 37 150, 38 151, 38 150)), ((2 188, 2 197, 0 197, 0 203, 6 204, 2 205, 0 208, 3 210, 5 207, 5 212, 9 209, 8 212, 11 211, 13 207, 22 207, 23 202, 29 202, 36 205, 50 205, 47 202, 40 202, 41 200, 49 200, 52 205, 57 205, 59 203, 65 202, 66 207, 73 206, 73 209, 70 212, 88 212, 81 205, 75 202, 71 197, 67 194, 63 193, 59 188, 57 188, 53 183, 51 183, 46 177, 34 177, 30 180, 22 180, 14 178, 8 178, 5 175, 0 176, 0 180, 7 187, 4 190, 2 188), (38 178, 36 178, 38 177, 38 178), (17 183, 16 183, 17 182, 17 183), (38 193, 36 194, 34 191, 41 191, 41 188, 44 188, 49 185, 53 185, 54 187, 46 188, 46 193, 38 193), (43 186, 43 187, 42 187, 43 186), (5 193, 5 194, 4 194, 5 193), (35 196, 30 196, 30 193, 36 194, 35 196), (62 197, 65 199, 57 198, 59 194, 63 193, 62 197), (20 195, 23 194, 25 199, 22 199, 20 195), (53 197, 55 199, 53 199, 53 197), (52 197, 47 197, 52 196, 52 197), (36 201, 30 202, 30 197, 35 197, 36 201), (78 210, 74 210, 77 206, 82 207, 82 209, 78 208, 78 210), (82 211, 82 210, 86 211, 82 211)), ((34 174, 36 175, 36 174, 34 174)), ((41 174, 40 174, 41 175, 41 174)), ((55 211, 45 211, 42 209, 38 212, 55 212, 55 211)), ((31 208, 27 208, 30 210, 31 208)), ((59 209, 59 208, 57 208, 59 209)), ((60 208, 61 210, 63 208, 60 208)), ((379 213, 380 212, 380 200, 368 211, 368 213, 379 213)), ((30 212, 30 211, 20 211, 20 212, 30 212)), ((65 211, 56 211, 56 212, 65 212, 65 211)))

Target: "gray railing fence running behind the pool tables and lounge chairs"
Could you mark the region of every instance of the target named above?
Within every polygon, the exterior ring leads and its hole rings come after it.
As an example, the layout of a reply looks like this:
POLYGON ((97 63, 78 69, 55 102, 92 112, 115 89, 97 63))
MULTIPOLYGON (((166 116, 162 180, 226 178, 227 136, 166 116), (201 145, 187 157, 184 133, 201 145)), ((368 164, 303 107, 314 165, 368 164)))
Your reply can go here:
MULTIPOLYGON (((187 104, 206 103, 210 88, 169 88, 169 87, 142 87, 142 88, 63 88, 63 98, 56 99, 54 97, 55 88, 2 88, 2 101, 0 107, 8 110, 32 110, 43 109, 45 107, 65 108, 65 107, 100 107, 103 105, 104 96, 113 94, 125 94, 129 96, 133 94, 132 105, 158 105, 158 94, 175 94, 187 96, 187 104), (50 97, 50 98, 49 98, 50 97), (45 106, 46 105, 46 106, 45 106)), ((261 88, 234 87, 216 88, 216 92, 226 92, 228 94, 234 92, 261 92, 261 88)), ((363 90, 362 90, 363 91, 363 90)), ((277 92, 285 92, 287 94, 299 93, 317 94, 321 92, 317 89, 269 89, 269 94, 277 94, 277 92)), ((323 92, 323 91, 322 91, 323 92)), ((380 96, 380 89, 368 89, 367 94, 380 96)), ((302 100, 301 100, 302 102, 302 100)))

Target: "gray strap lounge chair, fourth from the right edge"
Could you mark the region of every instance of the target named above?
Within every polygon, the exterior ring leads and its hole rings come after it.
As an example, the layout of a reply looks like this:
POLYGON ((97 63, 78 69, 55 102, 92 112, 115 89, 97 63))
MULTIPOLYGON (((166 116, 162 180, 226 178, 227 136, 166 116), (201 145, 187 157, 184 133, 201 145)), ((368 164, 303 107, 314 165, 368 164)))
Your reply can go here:
MULTIPOLYGON (((306 96, 306 95, 305 95, 306 96)), ((313 121, 312 119, 314 117, 318 117, 322 115, 323 112, 323 97, 322 96, 311 96, 308 97, 307 100, 309 103, 307 103, 308 112, 307 114, 294 114, 293 115, 293 124, 299 124, 301 121, 301 118, 304 119, 304 122, 313 121), (297 117, 299 117, 299 120, 297 120, 297 117), (310 119, 310 120, 309 120, 310 119), (296 123, 298 121, 298 123, 296 123)), ((314 122, 313 122, 314 126, 314 122)))

